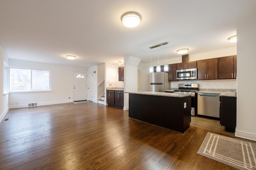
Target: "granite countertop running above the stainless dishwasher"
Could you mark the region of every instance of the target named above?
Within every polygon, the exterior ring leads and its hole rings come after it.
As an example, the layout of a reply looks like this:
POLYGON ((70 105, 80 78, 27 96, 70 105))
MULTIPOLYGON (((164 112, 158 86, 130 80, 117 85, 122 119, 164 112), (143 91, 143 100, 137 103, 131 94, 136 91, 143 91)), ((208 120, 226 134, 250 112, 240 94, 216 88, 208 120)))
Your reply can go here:
POLYGON ((220 96, 236 97, 236 89, 200 89, 196 93, 219 94, 220 96))

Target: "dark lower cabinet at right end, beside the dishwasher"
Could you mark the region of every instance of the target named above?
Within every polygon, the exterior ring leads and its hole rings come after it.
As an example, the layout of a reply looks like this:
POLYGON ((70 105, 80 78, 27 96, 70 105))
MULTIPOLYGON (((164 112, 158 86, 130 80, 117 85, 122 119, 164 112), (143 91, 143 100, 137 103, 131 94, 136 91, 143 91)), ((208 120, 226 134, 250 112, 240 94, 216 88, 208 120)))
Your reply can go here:
POLYGON ((225 131, 236 130, 236 97, 220 96, 220 124, 225 131))

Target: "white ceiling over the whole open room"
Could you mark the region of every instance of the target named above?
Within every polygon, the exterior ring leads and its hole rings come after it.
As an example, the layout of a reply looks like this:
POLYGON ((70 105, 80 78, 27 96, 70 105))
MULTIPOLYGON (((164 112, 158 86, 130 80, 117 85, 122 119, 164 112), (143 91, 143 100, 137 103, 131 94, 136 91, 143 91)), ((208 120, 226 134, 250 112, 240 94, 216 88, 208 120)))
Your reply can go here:
MULTIPOLYGON (((247 0, 250 1, 250 0, 247 0)), ((0 0, 0 44, 10 59, 90 67, 133 56, 150 62, 150 48, 168 42, 167 58, 235 47, 244 0, 0 0), (125 12, 141 23, 128 28, 125 12), (66 55, 75 55, 70 61, 66 55), (92 60, 94 59, 94 60, 92 60)), ((157 60, 157 48, 152 60, 157 60)), ((165 46, 159 47, 160 60, 165 46)))

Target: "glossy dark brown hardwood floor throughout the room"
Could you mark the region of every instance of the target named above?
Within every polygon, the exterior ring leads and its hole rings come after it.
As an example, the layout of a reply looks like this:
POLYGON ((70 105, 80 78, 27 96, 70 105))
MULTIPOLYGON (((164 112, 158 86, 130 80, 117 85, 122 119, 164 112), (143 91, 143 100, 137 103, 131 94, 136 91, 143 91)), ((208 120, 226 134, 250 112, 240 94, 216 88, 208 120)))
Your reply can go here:
POLYGON ((218 121, 192 117, 190 128, 179 133, 93 102, 10 109, 5 118, 1 170, 235 169, 196 154, 208 131, 234 136, 218 121))

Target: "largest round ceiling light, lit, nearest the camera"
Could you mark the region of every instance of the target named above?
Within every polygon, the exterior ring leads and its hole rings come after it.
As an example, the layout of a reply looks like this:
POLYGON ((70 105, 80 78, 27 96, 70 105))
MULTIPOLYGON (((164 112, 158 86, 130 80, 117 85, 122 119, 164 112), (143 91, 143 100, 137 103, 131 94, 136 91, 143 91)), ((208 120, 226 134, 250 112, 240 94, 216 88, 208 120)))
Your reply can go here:
POLYGON ((135 12, 128 12, 122 16, 124 26, 133 28, 140 24, 140 15, 135 12))

